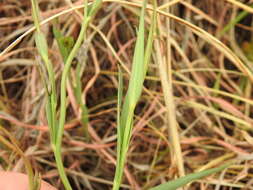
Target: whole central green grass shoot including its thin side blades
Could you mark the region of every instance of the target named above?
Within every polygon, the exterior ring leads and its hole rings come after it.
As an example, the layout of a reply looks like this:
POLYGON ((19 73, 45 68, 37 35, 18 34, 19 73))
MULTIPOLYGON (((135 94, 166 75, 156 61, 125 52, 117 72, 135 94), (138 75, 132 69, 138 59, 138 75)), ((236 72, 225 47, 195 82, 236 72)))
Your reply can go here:
MULTIPOLYGON (((155 1, 153 1, 154 3, 155 1)), ((143 82, 146 76, 148 62, 150 60, 152 43, 155 31, 155 12, 153 13, 153 19, 149 31, 149 37, 147 46, 145 49, 144 36, 145 36, 145 9, 147 6, 147 0, 143 1, 142 10, 140 15, 139 28, 137 33, 137 40, 135 44, 132 71, 129 81, 128 90, 126 93, 125 101, 123 103, 122 110, 120 105, 122 102, 122 73, 119 70, 119 84, 120 89, 118 92, 118 128, 117 128, 117 165, 113 183, 113 190, 118 190, 122 181, 124 165, 126 161, 127 151, 131 139, 131 132, 133 127, 133 116, 136 104, 142 93, 143 82)))

